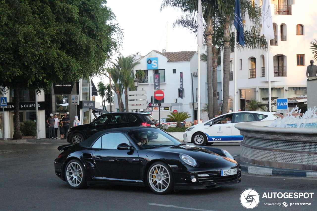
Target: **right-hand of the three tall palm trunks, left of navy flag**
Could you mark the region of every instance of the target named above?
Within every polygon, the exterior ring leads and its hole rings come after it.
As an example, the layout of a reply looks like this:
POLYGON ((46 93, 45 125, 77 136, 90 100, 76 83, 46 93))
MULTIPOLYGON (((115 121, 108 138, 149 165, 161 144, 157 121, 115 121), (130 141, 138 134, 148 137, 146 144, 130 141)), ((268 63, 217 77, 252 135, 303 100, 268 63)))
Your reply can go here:
POLYGON ((223 102, 221 114, 228 113, 229 80, 230 80, 230 32, 229 23, 224 20, 223 30, 223 102))

